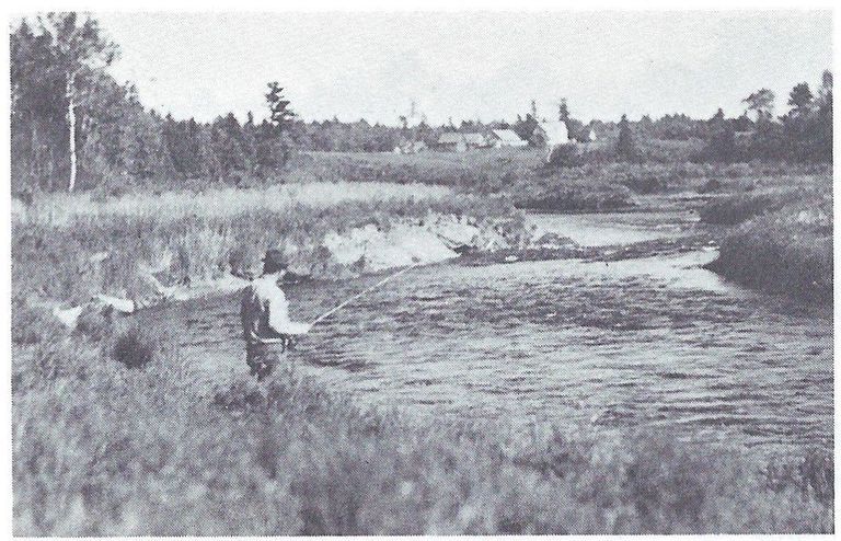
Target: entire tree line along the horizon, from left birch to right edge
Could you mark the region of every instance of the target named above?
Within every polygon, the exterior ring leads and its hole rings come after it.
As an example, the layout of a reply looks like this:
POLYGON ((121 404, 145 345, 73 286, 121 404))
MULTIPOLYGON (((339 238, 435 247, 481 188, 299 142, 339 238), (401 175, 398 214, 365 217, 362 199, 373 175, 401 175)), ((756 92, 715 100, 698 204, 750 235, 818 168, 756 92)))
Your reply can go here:
POLYGON ((646 115, 637 122, 623 116, 620 123, 585 124, 561 100, 556 114, 540 115, 532 101, 511 123, 307 123, 295 114, 280 83, 270 82, 260 115, 265 119, 228 113, 201 123, 148 111, 133 84, 115 81, 107 68, 119 50, 94 19, 51 13, 24 20, 10 39, 12 188, 19 193, 111 189, 158 180, 169 185, 238 184, 280 175, 296 150, 391 152, 407 140, 434 147, 445 131, 487 135, 512 129, 539 145, 534 131, 546 119, 566 123, 569 137, 576 145, 580 141, 565 166, 580 164, 588 156, 634 162, 829 162, 832 157, 829 71, 815 90, 805 82, 794 87, 790 110, 779 116, 774 93, 760 89, 745 97, 744 112, 731 118, 719 110, 708 119, 673 114, 656 120, 646 115), (693 150, 675 151, 683 143, 693 150))

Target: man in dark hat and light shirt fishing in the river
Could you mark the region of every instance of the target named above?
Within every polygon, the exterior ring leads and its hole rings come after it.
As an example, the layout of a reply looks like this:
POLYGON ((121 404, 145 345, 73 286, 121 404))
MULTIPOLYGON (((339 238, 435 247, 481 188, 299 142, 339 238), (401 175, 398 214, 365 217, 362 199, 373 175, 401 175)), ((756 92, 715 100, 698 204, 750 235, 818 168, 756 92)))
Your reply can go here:
POLYGON ((280 250, 268 250, 263 257, 263 275, 243 291, 240 316, 245 360, 257 380, 266 378, 278 364, 278 345, 284 353, 312 326, 289 319, 289 302, 279 286, 288 267, 280 250))

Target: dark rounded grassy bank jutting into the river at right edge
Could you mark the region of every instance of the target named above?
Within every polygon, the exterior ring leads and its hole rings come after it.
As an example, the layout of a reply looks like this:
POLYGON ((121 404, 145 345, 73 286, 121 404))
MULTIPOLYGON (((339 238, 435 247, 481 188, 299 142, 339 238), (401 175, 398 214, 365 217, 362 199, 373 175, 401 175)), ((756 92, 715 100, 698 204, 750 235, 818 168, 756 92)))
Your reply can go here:
POLYGON ((832 301, 832 179, 781 182, 711 202, 702 220, 733 226, 710 268, 774 292, 832 301))

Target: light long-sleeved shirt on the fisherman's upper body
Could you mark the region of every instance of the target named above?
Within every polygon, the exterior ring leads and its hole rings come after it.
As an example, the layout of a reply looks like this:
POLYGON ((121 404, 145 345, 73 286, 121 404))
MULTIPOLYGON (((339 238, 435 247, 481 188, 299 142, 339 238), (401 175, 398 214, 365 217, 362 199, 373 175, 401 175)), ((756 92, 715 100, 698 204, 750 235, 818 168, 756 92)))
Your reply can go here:
POLYGON ((309 323, 299 323, 289 318, 289 301, 277 285, 277 275, 262 276, 243 291, 240 314, 246 339, 251 334, 258 338, 274 338, 277 335, 309 332, 309 323))

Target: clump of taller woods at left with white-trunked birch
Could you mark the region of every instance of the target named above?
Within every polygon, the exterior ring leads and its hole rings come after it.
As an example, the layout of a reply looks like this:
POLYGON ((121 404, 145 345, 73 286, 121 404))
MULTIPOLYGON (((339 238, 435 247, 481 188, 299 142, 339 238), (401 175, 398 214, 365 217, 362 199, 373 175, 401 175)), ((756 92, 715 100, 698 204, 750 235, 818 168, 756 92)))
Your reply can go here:
POLYGON ((160 177, 231 181, 283 168, 295 113, 277 82, 267 118, 212 123, 147 111, 106 71, 118 48, 74 13, 22 21, 11 34, 12 188, 73 191, 160 177))

